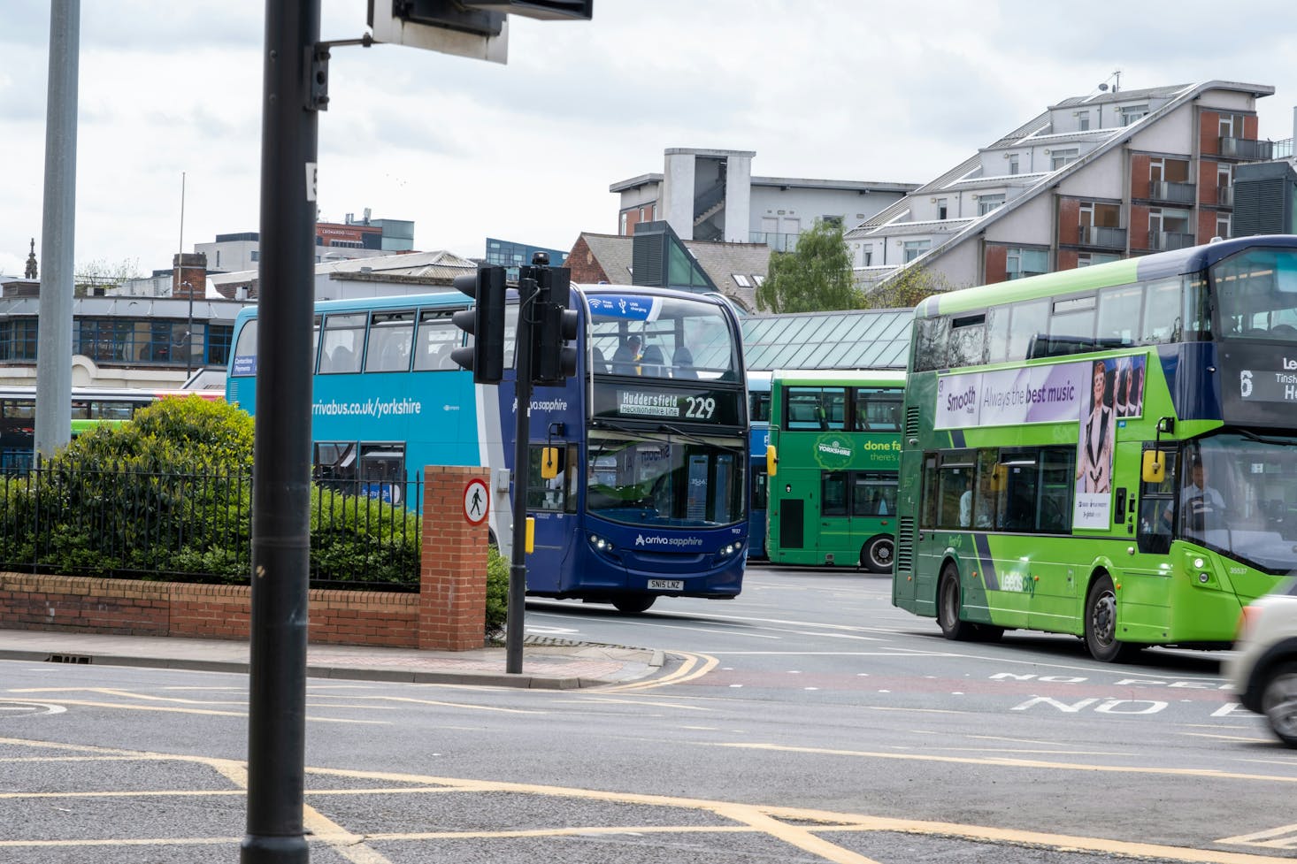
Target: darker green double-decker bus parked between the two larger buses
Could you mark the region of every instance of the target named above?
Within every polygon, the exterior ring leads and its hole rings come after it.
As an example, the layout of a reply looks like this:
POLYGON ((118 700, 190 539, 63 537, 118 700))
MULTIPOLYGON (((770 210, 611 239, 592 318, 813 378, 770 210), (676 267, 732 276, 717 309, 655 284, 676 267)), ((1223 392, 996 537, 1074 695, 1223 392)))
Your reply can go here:
POLYGON ((905 372, 777 371, 770 379, 767 555, 890 573, 905 372))

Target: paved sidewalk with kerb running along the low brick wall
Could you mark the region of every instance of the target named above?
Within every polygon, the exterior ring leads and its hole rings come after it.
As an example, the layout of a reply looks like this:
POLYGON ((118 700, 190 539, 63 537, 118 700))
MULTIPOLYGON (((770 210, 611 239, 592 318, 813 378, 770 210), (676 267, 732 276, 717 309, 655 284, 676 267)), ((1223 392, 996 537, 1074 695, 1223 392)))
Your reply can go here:
MULTIPOLYGON (((139 666, 246 672, 248 642, 0 629, 0 660, 139 666)), ((505 647, 470 651, 310 645, 306 675, 320 678, 412 681, 568 690, 656 675, 661 651, 527 637, 523 671, 510 675, 505 647)))

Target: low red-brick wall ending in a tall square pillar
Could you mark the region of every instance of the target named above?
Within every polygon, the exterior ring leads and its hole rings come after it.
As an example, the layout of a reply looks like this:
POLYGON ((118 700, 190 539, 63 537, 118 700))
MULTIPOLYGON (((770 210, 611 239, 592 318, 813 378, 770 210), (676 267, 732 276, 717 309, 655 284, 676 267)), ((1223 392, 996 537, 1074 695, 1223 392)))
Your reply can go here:
MULTIPOLYGON (((429 467, 424 479, 423 563, 418 594, 311 590, 307 640, 468 650, 486 618, 486 523, 464 516, 481 468, 429 467)), ((0 572, 0 628, 117 636, 246 640, 252 589, 83 576, 0 572)))

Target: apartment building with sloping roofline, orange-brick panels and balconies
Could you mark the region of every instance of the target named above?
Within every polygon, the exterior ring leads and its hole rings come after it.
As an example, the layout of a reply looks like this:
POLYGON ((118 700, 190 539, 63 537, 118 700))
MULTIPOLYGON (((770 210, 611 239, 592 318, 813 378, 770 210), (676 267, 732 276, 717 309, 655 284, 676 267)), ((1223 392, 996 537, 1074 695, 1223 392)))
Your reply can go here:
POLYGON ((1274 154, 1255 104, 1275 88, 1101 87, 850 230, 857 280, 922 267, 951 287, 987 284, 1231 236, 1236 169, 1274 154))

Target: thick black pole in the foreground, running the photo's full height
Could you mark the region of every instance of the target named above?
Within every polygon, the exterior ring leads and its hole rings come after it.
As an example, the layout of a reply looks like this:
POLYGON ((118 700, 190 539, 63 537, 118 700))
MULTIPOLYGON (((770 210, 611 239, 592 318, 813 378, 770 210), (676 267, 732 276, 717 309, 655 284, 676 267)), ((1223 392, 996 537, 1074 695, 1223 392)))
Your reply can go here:
POLYGON ((267 0, 243 864, 310 858, 302 810, 318 113, 302 62, 319 36, 320 0, 267 0))

